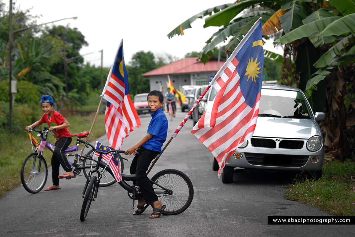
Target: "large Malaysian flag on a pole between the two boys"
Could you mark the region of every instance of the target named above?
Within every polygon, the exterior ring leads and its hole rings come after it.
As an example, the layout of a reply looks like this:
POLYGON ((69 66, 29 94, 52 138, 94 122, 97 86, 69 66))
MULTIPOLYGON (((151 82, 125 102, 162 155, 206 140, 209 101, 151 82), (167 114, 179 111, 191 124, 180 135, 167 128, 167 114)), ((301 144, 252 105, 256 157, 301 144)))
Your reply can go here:
POLYGON ((102 92, 107 100, 105 128, 109 146, 120 149, 131 131, 139 128, 141 120, 129 94, 127 71, 123 58, 123 39, 118 47, 102 92))

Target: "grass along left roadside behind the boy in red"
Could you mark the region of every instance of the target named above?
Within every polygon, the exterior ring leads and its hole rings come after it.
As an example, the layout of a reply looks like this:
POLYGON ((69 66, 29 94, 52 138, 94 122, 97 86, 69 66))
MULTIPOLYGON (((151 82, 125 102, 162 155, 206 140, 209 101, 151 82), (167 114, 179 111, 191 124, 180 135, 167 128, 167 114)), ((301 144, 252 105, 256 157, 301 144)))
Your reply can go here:
MULTIPOLYGON (((67 116, 66 119, 70 123, 69 131, 71 133, 79 133, 82 131, 89 131, 94 120, 95 114, 81 117, 81 116, 67 116)), ((105 115, 99 114, 95 125, 93 127, 89 141, 94 141, 100 136, 106 134, 105 131, 105 115)), ((44 125, 42 125, 43 127, 44 125)), ((24 126, 23 126, 24 127, 24 126)), ((24 129, 23 129, 24 130, 24 129)), ((38 137, 36 137, 37 140, 38 137)), ((48 141, 55 143, 52 135, 48 136, 48 141)), ((75 145, 75 140, 72 140, 71 146, 75 145)), ((9 134, 0 134, 0 198, 6 192, 21 184, 20 169, 24 158, 32 152, 30 142, 28 140, 28 133, 17 134, 10 136, 9 134)), ((82 145, 79 147, 82 148, 82 145)), ((84 151, 85 152, 85 151, 84 151)), ((43 154, 50 166, 50 159, 52 153, 46 149, 43 154)), ((48 170, 47 184, 51 183, 51 169, 48 170)))

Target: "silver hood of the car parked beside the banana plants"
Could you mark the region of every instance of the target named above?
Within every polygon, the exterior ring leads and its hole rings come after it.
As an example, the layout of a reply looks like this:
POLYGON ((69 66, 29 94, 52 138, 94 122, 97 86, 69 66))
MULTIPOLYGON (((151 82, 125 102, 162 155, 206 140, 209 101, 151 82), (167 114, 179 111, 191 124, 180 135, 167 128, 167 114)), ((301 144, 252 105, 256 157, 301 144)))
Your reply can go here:
POLYGON ((318 134, 313 119, 258 117, 253 136, 309 139, 318 134))

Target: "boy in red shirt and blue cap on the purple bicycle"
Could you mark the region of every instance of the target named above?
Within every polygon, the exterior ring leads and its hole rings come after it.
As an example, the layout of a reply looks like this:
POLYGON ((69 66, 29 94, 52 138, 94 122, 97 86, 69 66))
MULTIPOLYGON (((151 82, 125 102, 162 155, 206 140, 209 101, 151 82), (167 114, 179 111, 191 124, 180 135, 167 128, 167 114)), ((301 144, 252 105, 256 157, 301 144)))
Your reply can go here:
POLYGON ((42 96, 41 97, 42 110, 44 114, 42 118, 37 122, 26 127, 26 130, 31 129, 32 127, 38 127, 43 123, 47 123, 49 130, 53 133, 55 139, 55 149, 53 152, 51 165, 52 165, 52 181, 53 185, 44 189, 44 191, 60 189, 59 179, 66 177, 75 178, 72 168, 65 156, 65 149, 71 143, 71 134, 67 129, 70 124, 68 121, 57 111, 53 109, 54 102, 51 96, 42 96), (59 166, 62 166, 66 171, 64 174, 59 175, 59 166))

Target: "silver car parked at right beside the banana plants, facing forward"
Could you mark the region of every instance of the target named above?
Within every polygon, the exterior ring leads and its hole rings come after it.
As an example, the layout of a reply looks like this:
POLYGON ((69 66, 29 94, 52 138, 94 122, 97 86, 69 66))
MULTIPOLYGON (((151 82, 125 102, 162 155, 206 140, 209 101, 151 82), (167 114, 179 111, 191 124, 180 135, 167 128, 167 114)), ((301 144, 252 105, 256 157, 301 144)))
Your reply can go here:
MULTIPOLYGON (((263 84, 253 137, 228 158, 222 171, 222 182, 233 182, 234 171, 240 169, 304 170, 320 178, 324 142, 317 121, 324 119, 323 112, 313 114, 300 89, 263 84)), ((212 168, 219 168, 215 158, 212 168)))

